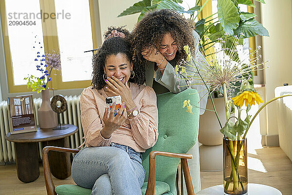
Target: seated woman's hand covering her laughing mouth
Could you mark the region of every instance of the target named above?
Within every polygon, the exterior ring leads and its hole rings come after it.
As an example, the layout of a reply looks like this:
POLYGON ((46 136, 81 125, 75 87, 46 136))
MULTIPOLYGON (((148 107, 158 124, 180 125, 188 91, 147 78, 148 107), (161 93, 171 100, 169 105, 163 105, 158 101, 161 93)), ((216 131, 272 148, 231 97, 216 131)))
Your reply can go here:
POLYGON ((106 80, 106 83, 110 86, 110 88, 107 88, 110 93, 121 96, 122 101, 125 102, 127 110, 135 106, 132 99, 131 90, 128 86, 128 81, 124 84, 118 78, 112 76, 112 78, 108 78, 108 80, 106 80))

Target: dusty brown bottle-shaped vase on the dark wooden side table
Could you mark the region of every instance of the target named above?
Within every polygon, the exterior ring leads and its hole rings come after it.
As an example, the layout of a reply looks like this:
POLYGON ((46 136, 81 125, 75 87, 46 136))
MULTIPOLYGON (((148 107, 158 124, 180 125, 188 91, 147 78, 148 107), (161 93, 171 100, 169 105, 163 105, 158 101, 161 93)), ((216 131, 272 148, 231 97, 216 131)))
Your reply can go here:
POLYGON ((41 129, 53 129, 58 125, 58 116, 51 108, 50 92, 48 89, 41 91, 42 102, 37 111, 38 124, 41 129))

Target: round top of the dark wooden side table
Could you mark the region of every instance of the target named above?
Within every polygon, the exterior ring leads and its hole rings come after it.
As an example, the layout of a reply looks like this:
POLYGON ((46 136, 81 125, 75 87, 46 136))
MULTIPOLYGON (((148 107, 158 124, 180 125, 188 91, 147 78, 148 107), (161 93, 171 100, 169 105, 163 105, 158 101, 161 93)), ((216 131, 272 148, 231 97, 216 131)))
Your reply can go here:
POLYGON ((36 132, 14 134, 14 135, 11 135, 10 133, 8 133, 6 134, 5 138, 8 141, 20 142, 20 143, 51 141, 51 140, 61 139, 64 137, 71 136, 78 131, 78 127, 76 127, 75 125, 64 124, 62 125, 62 127, 68 127, 68 128, 63 129, 63 130, 53 130, 53 129, 40 129, 39 126, 37 126, 36 132))

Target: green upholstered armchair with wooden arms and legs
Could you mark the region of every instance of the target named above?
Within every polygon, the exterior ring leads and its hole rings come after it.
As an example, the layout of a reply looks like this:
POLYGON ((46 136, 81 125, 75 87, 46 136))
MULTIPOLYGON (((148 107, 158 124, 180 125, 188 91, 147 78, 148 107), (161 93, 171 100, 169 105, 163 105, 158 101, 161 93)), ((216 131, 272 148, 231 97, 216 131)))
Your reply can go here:
MULTIPOLYGON (((142 165, 146 171, 145 182, 141 188, 142 195, 174 195, 177 167, 180 160, 182 160, 187 194, 195 195, 187 163, 187 159, 192 159, 192 155, 185 153, 198 140, 198 102, 199 95, 195 89, 187 89, 178 94, 165 93, 157 95, 159 137, 156 144, 142 154, 142 165), (185 112, 185 109, 183 109, 183 101, 185 99, 191 100, 193 115, 185 112)), ((47 194, 90 195, 91 189, 85 189, 77 185, 60 185, 55 187, 50 173, 49 151, 79 152, 76 149, 53 146, 47 146, 43 149, 42 156, 47 194)))

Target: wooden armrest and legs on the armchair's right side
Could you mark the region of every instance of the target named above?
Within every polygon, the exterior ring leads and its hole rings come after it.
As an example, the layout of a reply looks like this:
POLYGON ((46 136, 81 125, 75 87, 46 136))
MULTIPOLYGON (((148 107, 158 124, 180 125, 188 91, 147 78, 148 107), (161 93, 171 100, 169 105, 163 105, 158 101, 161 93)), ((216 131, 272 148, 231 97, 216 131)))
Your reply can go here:
POLYGON ((146 189, 145 195, 155 195, 155 186, 156 186, 155 157, 157 155, 158 156, 168 156, 168 157, 174 157, 174 158, 181 158, 187 194, 188 195, 195 195, 191 175, 190 175, 188 164, 187 164, 187 159, 193 159, 193 156, 190 154, 178 154, 178 153, 168 153, 168 152, 160 152, 160 151, 150 152, 150 155, 149 155, 149 176, 148 176, 148 184, 147 184, 147 189, 146 189))

